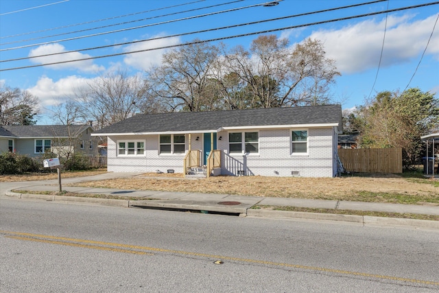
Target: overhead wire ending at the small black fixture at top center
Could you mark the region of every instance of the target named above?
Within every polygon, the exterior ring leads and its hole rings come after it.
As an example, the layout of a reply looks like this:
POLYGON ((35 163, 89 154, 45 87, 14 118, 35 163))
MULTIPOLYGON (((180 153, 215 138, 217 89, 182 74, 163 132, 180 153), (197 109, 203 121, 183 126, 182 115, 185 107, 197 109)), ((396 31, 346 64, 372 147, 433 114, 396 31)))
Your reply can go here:
POLYGON ((154 25, 164 25, 164 24, 167 24, 167 23, 175 23, 177 21, 187 21, 188 19, 199 19, 199 18, 204 17, 204 16, 211 16, 211 15, 215 15, 215 14, 222 14, 222 13, 225 13, 225 12, 232 12, 232 11, 242 10, 242 9, 246 9, 246 8, 254 8, 254 7, 265 5, 265 4, 271 3, 271 2, 272 1, 265 2, 265 3, 259 3, 259 4, 248 5, 248 6, 243 6, 243 7, 240 7, 240 8, 233 8, 233 9, 229 9, 229 10, 222 10, 222 11, 211 12, 211 13, 206 13, 206 14, 199 14, 199 15, 195 15, 195 16, 184 17, 182 19, 173 19, 171 21, 162 21, 160 23, 150 23, 150 24, 147 24, 147 25, 139 25, 137 27, 128 27, 128 28, 125 28, 125 29, 113 30, 113 31, 110 31, 110 32, 100 32, 100 33, 97 33, 97 34, 88 34, 86 36, 77 36, 77 37, 73 37, 73 38, 64 38, 63 40, 52 40, 52 41, 44 42, 44 43, 37 43, 37 44, 24 45, 24 46, 19 46, 19 47, 0 49, 0 51, 9 51, 9 50, 12 50, 12 49, 23 49, 23 48, 27 48, 27 47, 35 47, 35 46, 47 45, 47 44, 51 44, 51 43, 61 43, 61 42, 65 42, 67 40, 78 40, 80 38, 89 38, 91 36, 102 36, 104 34, 112 34, 112 33, 115 33, 115 32, 126 32, 128 30, 137 30, 139 28, 152 27, 154 25))

